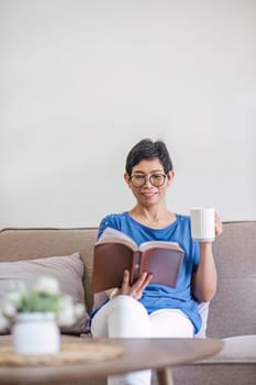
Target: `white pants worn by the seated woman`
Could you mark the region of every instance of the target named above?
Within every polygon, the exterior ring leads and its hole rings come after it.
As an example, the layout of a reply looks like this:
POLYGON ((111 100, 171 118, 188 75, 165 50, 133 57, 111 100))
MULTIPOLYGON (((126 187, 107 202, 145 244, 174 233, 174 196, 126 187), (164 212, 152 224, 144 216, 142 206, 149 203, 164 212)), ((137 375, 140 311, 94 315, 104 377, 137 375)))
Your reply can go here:
MULTIPOLYGON (((91 332, 96 338, 171 338, 193 337, 193 326, 180 310, 163 309, 148 316, 144 306, 130 296, 118 296, 93 317, 91 332)), ((151 371, 110 376, 108 385, 149 385, 151 371)))

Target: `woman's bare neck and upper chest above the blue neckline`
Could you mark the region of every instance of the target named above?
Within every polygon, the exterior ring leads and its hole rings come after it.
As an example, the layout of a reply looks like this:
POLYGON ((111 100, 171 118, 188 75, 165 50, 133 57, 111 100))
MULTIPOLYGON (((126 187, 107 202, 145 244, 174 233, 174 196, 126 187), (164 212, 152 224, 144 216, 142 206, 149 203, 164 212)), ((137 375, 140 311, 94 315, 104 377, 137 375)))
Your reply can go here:
POLYGON ((152 229, 164 229, 176 220, 176 215, 166 207, 145 208, 136 205, 129 213, 137 222, 152 229))

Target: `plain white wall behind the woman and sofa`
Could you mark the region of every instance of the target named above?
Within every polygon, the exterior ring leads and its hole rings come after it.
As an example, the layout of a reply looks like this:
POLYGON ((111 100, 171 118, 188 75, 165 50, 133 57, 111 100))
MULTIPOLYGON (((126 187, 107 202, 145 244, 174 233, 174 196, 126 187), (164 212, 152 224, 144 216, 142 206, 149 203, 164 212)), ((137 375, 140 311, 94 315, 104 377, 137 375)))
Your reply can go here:
POLYGON ((0 0, 0 228, 97 226, 163 139, 170 210, 256 219, 255 0, 0 0))

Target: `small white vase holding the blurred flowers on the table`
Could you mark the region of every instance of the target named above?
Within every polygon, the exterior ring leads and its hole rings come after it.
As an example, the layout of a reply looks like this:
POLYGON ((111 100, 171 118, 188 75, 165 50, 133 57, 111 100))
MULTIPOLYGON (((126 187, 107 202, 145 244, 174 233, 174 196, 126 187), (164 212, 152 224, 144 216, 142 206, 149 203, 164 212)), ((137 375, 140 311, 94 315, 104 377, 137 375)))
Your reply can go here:
POLYGON ((54 312, 22 312, 12 328, 18 354, 55 354, 59 352, 60 333, 54 312))

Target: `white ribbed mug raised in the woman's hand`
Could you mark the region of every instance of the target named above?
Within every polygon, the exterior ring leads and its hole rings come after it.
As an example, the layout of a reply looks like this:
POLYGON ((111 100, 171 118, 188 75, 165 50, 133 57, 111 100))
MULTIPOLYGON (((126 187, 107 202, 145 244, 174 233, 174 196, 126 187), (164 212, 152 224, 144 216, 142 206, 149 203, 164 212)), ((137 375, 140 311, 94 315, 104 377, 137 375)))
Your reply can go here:
POLYGON ((215 239, 215 209, 192 208, 191 237, 197 242, 212 242, 215 239))

